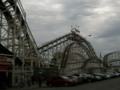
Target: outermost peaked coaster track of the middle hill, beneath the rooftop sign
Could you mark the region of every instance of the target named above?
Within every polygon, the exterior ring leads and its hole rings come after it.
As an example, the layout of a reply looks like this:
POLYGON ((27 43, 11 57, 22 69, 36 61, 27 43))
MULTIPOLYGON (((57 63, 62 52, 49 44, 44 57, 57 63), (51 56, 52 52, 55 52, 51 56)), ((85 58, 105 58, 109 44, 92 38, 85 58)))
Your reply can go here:
POLYGON ((69 42, 69 44, 71 42, 77 42, 78 44, 83 44, 84 47, 86 48, 86 50, 88 50, 88 53, 90 54, 89 56, 91 58, 97 57, 91 44, 88 41, 86 41, 82 36, 75 34, 75 33, 68 33, 61 37, 56 38, 55 40, 47 42, 47 43, 43 44, 41 47, 39 47, 38 50, 40 53, 44 53, 44 52, 48 51, 49 49, 52 49, 64 42, 69 42))

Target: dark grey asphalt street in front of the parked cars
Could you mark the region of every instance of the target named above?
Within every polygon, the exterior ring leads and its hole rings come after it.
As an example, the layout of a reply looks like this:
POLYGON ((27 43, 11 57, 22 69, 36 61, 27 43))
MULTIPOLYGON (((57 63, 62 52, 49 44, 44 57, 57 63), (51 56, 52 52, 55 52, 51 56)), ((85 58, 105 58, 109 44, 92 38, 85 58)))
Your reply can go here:
MULTIPOLYGON (((74 87, 31 87, 24 88, 24 90, 120 90, 120 77, 93 82, 93 83, 85 83, 80 84, 74 87)), ((8 90, 23 90, 23 89, 8 89, 8 90)))

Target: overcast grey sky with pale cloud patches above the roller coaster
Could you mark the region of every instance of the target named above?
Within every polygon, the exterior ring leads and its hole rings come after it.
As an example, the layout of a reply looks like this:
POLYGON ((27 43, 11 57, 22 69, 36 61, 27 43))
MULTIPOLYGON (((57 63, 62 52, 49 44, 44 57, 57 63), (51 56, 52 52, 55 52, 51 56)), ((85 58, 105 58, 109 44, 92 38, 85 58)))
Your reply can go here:
POLYGON ((79 26, 96 53, 120 50, 120 0, 21 0, 30 30, 41 45, 79 26))

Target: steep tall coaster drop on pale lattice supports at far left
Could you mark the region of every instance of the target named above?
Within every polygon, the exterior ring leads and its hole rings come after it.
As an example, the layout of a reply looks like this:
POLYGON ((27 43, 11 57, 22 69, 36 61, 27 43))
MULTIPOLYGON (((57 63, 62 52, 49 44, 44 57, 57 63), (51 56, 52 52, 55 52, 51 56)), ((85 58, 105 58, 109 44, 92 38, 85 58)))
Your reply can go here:
POLYGON ((20 0, 0 0, 0 43, 21 59, 23 65, 40 62, 37 45, 20 0))

